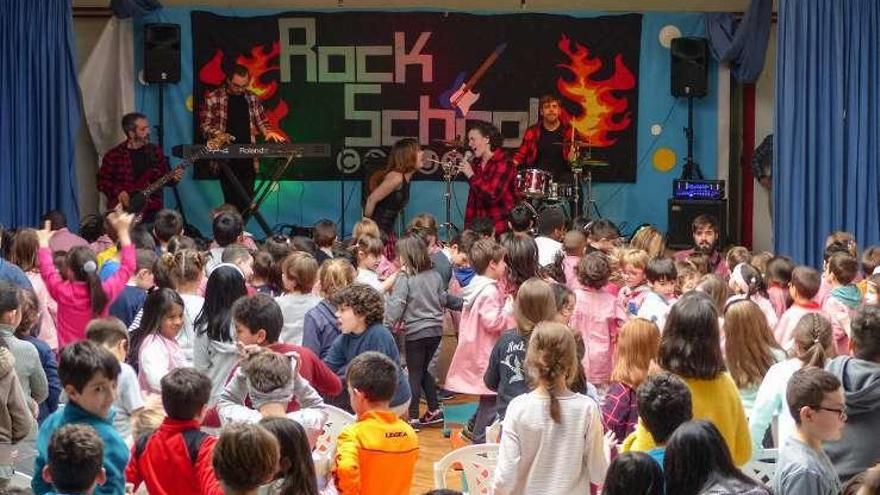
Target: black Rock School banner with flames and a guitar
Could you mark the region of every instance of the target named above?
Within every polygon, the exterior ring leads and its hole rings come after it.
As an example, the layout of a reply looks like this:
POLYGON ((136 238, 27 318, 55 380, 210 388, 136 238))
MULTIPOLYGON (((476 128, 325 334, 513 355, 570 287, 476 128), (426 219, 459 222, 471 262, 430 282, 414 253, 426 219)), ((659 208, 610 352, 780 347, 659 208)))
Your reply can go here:
MULTIPOLYGON (((395 141, 416 137, 426 147, 416 178, 437 180, 449 152, 442 141, 465 137, 468 121, 493 122, 513 151, 539 119, 539 97, 555 93, 592 158, 610 164, 594 180, 636 180, 641 15, 193 11, 191 19, 194 120, 203 95, 241 64, 272 124, 294 142, 330 144, 330 159, 300 159, 287 179, 360 179, 395 141), (463 85, 472 94, 451 98, 463 85)), ((261 173, 274 166, 264 160, 261 173)))

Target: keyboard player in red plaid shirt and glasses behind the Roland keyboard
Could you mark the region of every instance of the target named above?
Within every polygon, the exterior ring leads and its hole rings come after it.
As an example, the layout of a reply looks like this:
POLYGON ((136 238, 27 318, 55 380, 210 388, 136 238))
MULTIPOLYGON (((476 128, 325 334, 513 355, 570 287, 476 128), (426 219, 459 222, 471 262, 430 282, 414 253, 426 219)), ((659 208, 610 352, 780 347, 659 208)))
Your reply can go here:
MULTIPOLYGON (((199 111, 199 127, 205 139, 227 133, 234 136, 235 142, 239 144, 255 142, 257 134, 262 134, 267 141, 284 141, 284 136, 270 126, 260 99, 248 89, 250 83, 251 76, 247 67, 236 65, 226 74, 226 83, 223 86, 205 94, 205 102, 199 111)), ((238 159, 227 160, 226 164, 244 188, 247 197, 242 197, 231 178, 220 174, 223 201, 244 212, 254 197, 254 181, 257 178, 259 161, 238 159)))

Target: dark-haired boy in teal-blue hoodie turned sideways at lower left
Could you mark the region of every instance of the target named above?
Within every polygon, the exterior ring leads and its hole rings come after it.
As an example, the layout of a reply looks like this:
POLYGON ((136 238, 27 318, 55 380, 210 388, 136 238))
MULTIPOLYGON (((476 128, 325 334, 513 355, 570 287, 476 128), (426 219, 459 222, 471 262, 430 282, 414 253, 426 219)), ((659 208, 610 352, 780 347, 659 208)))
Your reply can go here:
MULTIPOLYGON (((114 412, 111 411, 116 400, 119 361, 95 343, 76 342, 61 350, 58 375, 69 402, 63 409, 52 413, 40 426, 34 473, 43 472, 49 456, 49 440, 56 430, 69 424, 86 424, 94 428, 104 442, 103 464, 107 480, 94 493, 125 493, 128 447, 113 428, 114 412)), ((52 486, 39 475, 34 476, 31 488, 36 495, 52 492, 52 486)))

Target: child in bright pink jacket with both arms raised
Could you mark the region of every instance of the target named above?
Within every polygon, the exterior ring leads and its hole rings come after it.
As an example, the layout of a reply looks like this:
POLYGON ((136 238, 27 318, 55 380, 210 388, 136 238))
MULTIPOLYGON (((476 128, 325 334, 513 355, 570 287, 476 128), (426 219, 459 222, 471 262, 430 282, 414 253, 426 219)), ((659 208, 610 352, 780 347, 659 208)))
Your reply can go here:
POLYGON ((66 280, 61 278, 52 262, 49 239, 52 231, 47 223, 37 231, 40 250, 37 260, 40 275, 46 283, 49 295, 58 303, 58 347, 85 340, 86 325, 92 318, 107 316, 113 300, 125 289, 125 284, 135 271, 135 251, 131 244, 129 228, 134 219, 130 213, 110 215, 108 221, 116 229, 122 246, 122 264, 109 279, 101 282, 95 253, 85 246, 75 247, 65 260, 66 280))

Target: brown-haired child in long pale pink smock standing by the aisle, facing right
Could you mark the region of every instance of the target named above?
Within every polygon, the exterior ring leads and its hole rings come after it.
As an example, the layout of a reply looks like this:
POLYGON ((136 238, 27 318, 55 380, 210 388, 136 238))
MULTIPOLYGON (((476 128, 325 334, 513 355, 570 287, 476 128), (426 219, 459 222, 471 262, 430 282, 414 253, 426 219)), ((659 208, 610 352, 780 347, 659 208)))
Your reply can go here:
POLYGON ((498 280, 507 270, 504 248, 492 239, 481 239, 468 252, 477 275, 464 287, 464 307, 458 327, 458 346, 449 364, 444 388, 480 396, 477 412, 463 434, 482 443, 485 430, 495 416, 495 392, 483 383, 495 342, 513 328, 507 296, 498 280))

